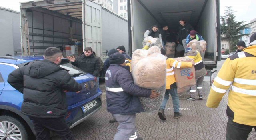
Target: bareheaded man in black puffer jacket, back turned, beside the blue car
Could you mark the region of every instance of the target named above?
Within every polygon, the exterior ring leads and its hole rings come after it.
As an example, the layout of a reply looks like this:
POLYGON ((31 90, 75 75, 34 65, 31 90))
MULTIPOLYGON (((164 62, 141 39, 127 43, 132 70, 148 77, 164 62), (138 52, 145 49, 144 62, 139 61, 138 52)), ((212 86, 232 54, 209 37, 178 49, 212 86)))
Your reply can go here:
POLYGON ((49 47, 44 60, 32 61, 8 76, 8 83, 23 93, 21 112, 32 120, 36 140, 49 140, 50 130, 62 140, 74 140, 65 121, 67 104, 64 91, 77 92, 82 87, 58 66, 61 58, 58 48, 49 47))

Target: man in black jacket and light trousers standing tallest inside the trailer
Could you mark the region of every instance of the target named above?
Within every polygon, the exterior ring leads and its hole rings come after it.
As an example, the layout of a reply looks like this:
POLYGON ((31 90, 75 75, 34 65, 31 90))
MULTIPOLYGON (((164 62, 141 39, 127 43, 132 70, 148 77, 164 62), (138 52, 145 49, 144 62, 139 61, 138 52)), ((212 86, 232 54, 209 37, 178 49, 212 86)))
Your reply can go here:
POLYGON ((178 38, 177 38, 177 42, 180 43, 182 42, 182 45, 184 47, 184 49, 186 49, 186 38, 188 36, 188 34, 190 33, 191 30, 194 30, 194 28, 185 22, 185 20, 180 19, 179 20, 180 26, 179 26, 179 34, 178 34, 178 38))

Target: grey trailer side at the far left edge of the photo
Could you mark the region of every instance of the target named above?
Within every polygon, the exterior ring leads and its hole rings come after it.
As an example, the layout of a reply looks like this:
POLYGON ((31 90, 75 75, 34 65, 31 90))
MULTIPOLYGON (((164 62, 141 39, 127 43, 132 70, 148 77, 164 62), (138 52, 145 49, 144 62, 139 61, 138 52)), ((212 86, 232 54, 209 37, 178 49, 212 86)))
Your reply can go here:
POLYGON ((0 56, 15 55, 20 48, 20 13, 0 8, 0 56))

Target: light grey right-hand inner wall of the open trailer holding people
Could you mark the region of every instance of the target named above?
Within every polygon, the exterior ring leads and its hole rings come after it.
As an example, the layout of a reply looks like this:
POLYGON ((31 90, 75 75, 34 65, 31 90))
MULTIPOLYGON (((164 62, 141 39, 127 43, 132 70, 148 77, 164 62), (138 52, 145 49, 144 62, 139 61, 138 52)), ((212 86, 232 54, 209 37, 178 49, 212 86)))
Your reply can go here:
POLYGON ((216 2, 215 0, 207 0, 207 3, 202 11, 201 18, 198 22, 197 30, 207 42, 205 60, 215 60, 214 52, 216 52, 217 27, 216 27, 216 2), (208 59, 207 59, 208 58, 208 59))

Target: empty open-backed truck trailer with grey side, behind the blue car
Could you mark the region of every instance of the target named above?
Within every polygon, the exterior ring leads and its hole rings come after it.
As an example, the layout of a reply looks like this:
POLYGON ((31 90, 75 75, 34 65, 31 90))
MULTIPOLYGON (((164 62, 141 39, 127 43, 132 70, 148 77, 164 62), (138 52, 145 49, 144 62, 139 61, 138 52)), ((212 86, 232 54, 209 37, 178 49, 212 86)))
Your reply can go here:
POLYGON ((42 55, 48 47, 62 46, 64 56, 68 56, 66 46, 75 45, 78 51, 71 52, 76 55, 85 47, 92 47, 103 59, 112 48, 124 45, 128 50, 128 21, 98 3, 94 0, 21 2, 22 55, 42 55))

